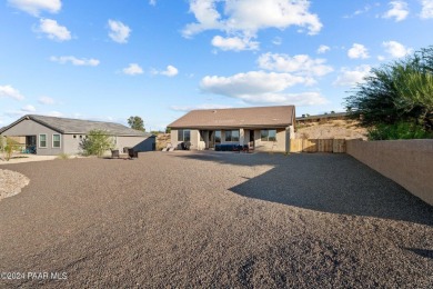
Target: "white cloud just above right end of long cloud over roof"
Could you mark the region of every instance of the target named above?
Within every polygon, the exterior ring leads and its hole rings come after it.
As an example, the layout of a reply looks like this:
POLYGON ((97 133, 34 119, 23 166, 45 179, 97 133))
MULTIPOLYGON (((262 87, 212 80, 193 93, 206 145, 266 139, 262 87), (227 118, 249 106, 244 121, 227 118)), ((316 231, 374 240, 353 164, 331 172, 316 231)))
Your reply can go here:
POLYGON ((312 59, 306 54, 264 53, 259 57, 259 67, 278 72, 293 72, 299 76, 322 77, 333 71, 324 59, 312 59))

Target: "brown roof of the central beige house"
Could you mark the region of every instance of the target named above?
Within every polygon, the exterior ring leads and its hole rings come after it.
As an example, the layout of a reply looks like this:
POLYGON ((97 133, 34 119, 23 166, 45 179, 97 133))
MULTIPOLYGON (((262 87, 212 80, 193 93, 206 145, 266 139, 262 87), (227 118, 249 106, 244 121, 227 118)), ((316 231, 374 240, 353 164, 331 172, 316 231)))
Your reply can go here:
POLYGON ((294 106, 191 110, 169 128, 285 128, 295 118, 294 106))

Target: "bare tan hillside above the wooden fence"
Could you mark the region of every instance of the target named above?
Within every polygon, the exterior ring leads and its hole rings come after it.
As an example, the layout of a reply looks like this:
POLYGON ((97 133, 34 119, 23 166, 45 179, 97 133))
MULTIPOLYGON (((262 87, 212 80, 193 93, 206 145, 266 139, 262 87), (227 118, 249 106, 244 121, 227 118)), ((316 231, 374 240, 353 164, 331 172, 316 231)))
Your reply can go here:
POLYGON ((298 123, 296 139, 366 139, 366 130, 358 121, 348 119, 321 119, 298 123))

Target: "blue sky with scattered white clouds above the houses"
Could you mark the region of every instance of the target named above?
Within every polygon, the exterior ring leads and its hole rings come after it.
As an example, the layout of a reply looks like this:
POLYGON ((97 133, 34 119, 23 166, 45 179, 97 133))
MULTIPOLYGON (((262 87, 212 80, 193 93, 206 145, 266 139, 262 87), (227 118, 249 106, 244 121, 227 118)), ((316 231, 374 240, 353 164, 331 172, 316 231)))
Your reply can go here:
POLYGON ((371 68, 433 44, 433 0, 6 0, 0 127, 28 113, 164 129, 191 109, 343 111, 371 68))

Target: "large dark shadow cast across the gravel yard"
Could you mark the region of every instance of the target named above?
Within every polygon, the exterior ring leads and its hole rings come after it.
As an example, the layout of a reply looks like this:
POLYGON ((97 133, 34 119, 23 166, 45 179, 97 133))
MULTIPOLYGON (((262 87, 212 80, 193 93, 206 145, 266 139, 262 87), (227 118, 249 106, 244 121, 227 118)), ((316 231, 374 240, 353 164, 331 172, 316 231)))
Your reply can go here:
POLYGON ((230 188, 271 202, 323 212, 369 216, 433 226, 433 207, 348 155, 191 153, 179 158, 274 168, 230 188))

